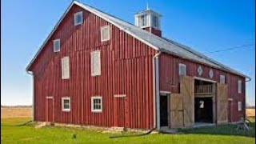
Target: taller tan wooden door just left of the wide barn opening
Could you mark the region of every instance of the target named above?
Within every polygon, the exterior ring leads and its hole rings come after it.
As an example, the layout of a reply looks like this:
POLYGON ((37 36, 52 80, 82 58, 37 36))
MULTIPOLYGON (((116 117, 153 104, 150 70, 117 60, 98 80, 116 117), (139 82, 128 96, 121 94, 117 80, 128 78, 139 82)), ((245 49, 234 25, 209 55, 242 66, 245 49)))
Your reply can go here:
POLYGON ((184 126, 194 125, 194 78, 180 77, 180 90, 183 97, 184 126))

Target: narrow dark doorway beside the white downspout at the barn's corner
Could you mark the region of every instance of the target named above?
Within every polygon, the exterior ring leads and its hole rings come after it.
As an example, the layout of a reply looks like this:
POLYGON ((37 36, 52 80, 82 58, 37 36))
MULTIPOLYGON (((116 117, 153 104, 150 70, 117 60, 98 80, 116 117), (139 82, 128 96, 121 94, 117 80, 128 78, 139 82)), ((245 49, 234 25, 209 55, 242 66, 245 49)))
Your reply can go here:
POLYGON ((168 97, 160 96, 160 126, 168 126, 168 97))

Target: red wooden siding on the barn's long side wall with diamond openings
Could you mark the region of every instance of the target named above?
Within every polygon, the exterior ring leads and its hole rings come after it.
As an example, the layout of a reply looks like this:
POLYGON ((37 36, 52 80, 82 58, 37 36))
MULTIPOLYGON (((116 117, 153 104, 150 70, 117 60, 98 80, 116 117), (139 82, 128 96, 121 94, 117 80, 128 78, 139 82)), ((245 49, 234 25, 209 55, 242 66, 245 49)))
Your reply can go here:
POLYGON ((163 53, 160 55, 159 64, 160 90, 170 91, 171 93, 179 92, 178 63, 186 65, 186 75, 189 76, 208 78, 220 82, 220 75, 225 75, 226 84, 228 85, 228 98, 233 98, 231 105, 232 118, 230 121, 237 122, 240 120, 240 117, 245 116, 245 78, 227 73, 223 70, 217 70, 206 65, 190 62, 186 59, 163 53), (198 75, 198 66, 202 66, 203 72, 201 76, 198 75), (209 76, 210 69, 214 71, 213 78, 209 76), (238 79, 242 80, 242 94, 238 94, 238 79), (238 101, 242 102, 242 111, 238 111, 238 101))

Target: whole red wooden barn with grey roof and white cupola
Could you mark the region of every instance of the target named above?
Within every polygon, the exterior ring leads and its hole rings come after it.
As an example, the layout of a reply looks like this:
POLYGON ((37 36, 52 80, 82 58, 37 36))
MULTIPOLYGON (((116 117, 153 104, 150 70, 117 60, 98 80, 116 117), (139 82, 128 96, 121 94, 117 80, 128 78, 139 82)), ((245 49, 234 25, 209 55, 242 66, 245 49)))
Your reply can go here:
POLYGON ((26 71, 34 121, 159 129, 245 117, 246 78, 163 38, 161 15, 135 26, 72 2, 26 71))

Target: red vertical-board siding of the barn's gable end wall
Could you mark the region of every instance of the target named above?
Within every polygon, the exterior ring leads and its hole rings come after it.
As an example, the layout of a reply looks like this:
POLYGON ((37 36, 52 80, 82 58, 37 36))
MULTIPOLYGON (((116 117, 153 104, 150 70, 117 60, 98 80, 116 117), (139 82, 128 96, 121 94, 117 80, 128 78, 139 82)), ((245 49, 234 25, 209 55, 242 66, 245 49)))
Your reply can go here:
POLYGON ((83 10, 74 26, 73 6, 31 66, 34 72, 35 120, 46 121, 46 97, 54 98, 54 122, 96 126, 154 127, 153 57, 156 51, 102 18, 83 10), (110 26, 110 41, 101 42, 100 27, 110 26), (53 52, 60 38, 61 51, 53 52), (90 74, 90 52, 101 51, 102 74, 90 74), (70 57, 70 79, 61 77, 61 58, 70 57), (126 98, 114 98, 126 94, 126 98), (62 97, 70 112, 62 112, 62 97), (90 97, 102 96, 102 113, 92 113, 90 97), (118 118, 116 118, 118 117, 118 118))

